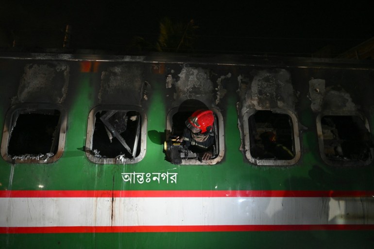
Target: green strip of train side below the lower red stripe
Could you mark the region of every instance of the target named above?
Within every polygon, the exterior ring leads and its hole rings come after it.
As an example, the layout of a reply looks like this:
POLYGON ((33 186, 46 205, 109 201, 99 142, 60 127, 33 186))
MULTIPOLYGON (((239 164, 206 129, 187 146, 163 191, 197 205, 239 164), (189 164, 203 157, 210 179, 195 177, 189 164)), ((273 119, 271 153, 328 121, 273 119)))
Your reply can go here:
POLYGON ((372 249, 373 231, 0 234, 1 248, 372 249))

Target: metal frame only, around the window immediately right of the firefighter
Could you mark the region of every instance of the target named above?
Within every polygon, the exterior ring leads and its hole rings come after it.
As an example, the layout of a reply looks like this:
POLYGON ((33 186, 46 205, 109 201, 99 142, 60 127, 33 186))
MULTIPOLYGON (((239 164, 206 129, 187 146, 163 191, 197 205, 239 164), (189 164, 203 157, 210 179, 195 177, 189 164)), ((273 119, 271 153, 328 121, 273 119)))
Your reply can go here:
POLYGON ((293 143, 295 146, 295 157, 291 160, 276 160, 276 159, 257 159, 252 157, 250 150, 250 137, 249 137, 249 123, 248 119, 250 116, 254 115, 257 111, 272 111, 270 109, 249 109, 243 115, 243 133, 244 133, 244 147, 245 156, 247 159, 258 166, 289 166, 296 164, 301 156, 300 150, 300 137, 299 137, 299 125, 296 116, 288 109, 277 109, 275 113, 286 114, 292 120, 293 129, 293 143))

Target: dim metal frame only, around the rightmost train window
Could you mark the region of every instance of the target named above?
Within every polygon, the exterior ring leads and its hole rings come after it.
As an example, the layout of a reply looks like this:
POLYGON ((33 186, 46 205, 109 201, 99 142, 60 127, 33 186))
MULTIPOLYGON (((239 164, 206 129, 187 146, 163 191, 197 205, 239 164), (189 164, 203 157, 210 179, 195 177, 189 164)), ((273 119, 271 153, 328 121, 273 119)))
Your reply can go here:
POLYGON ((370 149, 370 154, 372 157, 369 157, 366 161, 361 160, 331 160, 326 157, 324 153, 324 142, 323 142, 323 132, 322 132, 322 123, 321 119, 323 116, 358 116, 362 119, 366 129, 368 129, 368 132, 370 132, 370 126, 368 119, 360 114, 357 111, 340 111, 340 112, 332 112, 332 111, 324 111, 320 113, 316 118, 316 125, 317 125, 317 135, 318 135, 318 144, 320 148, 320 155, 322 160, 330 165, 330 166, 366 166, 369 165, 373 161, 373 155, 374 155, 374 149, 370 149))

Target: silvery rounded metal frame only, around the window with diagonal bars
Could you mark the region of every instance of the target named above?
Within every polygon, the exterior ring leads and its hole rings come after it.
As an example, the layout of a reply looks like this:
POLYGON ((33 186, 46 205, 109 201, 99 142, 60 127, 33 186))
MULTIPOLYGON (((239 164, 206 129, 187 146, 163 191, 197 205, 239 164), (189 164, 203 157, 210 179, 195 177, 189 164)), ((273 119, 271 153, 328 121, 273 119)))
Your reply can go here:
MULTIPOLYGON (((122 139, 123 140, 123 139, 122 139)), ((120 141, 121 143, 125 141, 120 141)), ((86 143, 85 143, 85 154, 89 161, 95 164, 135 164, 141 161, 146 152, 146 142, 147 142, 147 116, 145 115, 143 109, 138 106, 133 105, 99 105, 94 107, 88 114, 87 120, 87 133, 86 133, 86 143), (95 120, 96 113, 100 111, 135 111, 139 113, 141 118, 140 123, 140 152, 139 155, 135 158, 99 158, 93 155, 92 153, 92 142, 93 142, 93 132, 95 129, 95 120)), ((123 143, 122 143, 123 145, 123 143)), ((126 146, 124 146, 126 149, 126 146)), ((128 148, 127 148, 128 149, 128 148)))

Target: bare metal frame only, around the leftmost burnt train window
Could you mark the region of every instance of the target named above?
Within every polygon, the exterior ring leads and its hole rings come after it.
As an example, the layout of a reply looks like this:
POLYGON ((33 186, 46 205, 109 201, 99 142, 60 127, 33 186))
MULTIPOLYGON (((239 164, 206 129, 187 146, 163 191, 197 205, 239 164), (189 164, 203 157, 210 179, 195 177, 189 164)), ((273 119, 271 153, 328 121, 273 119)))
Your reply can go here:
POLYGON ((7 111, 4 129, 1 139, 1 156, 2 158, 12 164, 49 164, 57 161, 61 158, 64 148, 65 148, 65 138, 66 138, 66 129, 67 129, 67 113, 61 105, 57 104, 46 104, 46 103, 21 103, 16 104, 9 108, 7 111), (12 124, 14 123, 14 115, 17 111, 20 110, 58 110, 60 112, 59 119, 59 140, 57 146, 57 153, 46 159, 38 159, 37 157, 31 157, 26 159, 16 158, 13 159, 8 154, 8 145, 12 132, 12 124))

